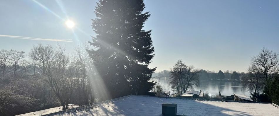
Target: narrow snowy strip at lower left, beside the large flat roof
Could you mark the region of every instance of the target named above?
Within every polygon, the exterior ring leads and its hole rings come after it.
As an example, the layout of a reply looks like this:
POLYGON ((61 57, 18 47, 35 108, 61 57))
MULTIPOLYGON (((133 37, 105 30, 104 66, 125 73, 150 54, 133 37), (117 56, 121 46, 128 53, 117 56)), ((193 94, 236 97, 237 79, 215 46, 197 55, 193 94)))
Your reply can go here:
MULTIPOLYGON (((70 108, 76 108, 76 107, 78 107, 78 105, 70 104, 69 107, 70 108)), ((50 113, 58 112, 58 111, 62 111, 62 107, 49 108, 49 109, 46 109, 46 110, 29 112, 29 113, 26 113, 26 114, 21 114, 21 115, 16 115, 16 116, 40 116, 40 115, 46 115, 46 114, 50 114, 50 113)))

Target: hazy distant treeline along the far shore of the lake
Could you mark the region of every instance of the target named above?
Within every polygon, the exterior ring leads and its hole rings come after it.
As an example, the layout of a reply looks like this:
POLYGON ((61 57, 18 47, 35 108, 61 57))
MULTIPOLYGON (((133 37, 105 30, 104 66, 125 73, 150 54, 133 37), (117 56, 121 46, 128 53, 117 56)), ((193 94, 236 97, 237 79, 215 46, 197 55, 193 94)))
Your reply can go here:
MULTIPOLYGON (((235 80, 239 81, 241 77, 244 77, 244 72, 236 72, 236 71, 224 71, 221 70, 218 72, 215 71, 209 71, 201 69, 199 70, 199 79, 200 80, 235 80)), ((170 78, 170 71, 169 70, 163 70, 159 72, 155 72, 152 74, 152 77, 155 78, 170 78)), ((243 79, 242 79, 243 80, 243 79)))

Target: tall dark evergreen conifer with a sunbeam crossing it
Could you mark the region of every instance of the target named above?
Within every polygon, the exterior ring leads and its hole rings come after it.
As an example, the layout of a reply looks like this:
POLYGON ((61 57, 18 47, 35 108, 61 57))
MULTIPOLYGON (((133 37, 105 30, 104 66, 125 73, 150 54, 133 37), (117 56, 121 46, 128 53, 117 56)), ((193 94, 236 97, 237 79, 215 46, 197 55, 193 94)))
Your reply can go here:
POLYGON ((149 12, 142 13, 143 0, 99 0, 92 28, 96 37, 88 51, 112 98, 146 94, 155 83, 149 79, 156 68, 151 30, 143 30, 149 12))

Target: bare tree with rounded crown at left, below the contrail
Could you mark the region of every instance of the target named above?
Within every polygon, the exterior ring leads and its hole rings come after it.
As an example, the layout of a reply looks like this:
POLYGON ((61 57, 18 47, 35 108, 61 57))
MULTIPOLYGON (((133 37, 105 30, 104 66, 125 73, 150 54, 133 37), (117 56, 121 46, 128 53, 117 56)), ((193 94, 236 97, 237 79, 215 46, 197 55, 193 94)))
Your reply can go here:
POLYGON ((29 57, 36 62, 37 66, 41 67, 42 74, 45 75, 50 71, 54 60, 54 54, 55 52, 52 46, 38 44, 37 46, 33 46, 33 49, 31 49, 29 53, 29 57))

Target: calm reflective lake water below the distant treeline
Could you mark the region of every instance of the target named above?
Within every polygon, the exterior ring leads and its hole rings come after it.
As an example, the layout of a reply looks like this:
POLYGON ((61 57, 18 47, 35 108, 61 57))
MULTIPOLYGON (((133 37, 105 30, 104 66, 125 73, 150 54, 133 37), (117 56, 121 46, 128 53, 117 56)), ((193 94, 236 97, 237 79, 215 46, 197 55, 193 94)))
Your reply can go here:
MULTIPOLYGON (((163 86, 163 88, 166 91, 172 91, 171 86, 169 85, 168 79, 158 79, 158 78, 152 78, 152 80, 159 82, 163 86)), ((225 81, 200 81, 200 86, 195 87, 194 90, 196 91, 207 91, 208 93, 211 93, 212 95, 219 94, 219 91, 221 95, 232 95, 233 93, 241 94, 241 88, 242 88, 242 94, 246 96, 250 96, 250 92, 247 91, 247 89, 244 87, 244 83, 240 82, 225 82, 225 81), (242 85, 242 87, 241 87, 242 85)), ((171 93, 172 93, 171 92, 171 93)))

